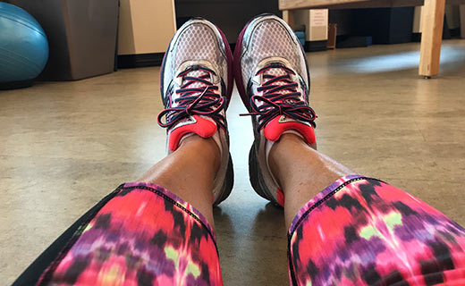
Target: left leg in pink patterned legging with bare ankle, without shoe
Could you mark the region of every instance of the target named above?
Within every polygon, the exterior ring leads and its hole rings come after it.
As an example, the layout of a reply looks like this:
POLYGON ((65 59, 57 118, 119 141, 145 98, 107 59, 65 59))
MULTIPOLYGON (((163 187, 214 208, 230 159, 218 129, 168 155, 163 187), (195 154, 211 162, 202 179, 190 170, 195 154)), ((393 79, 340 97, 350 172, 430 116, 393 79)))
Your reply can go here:
POLYGON ((219 157, 213 139, 182 140, 83 215, 15 284, 221 285, 210 226, 219 157))

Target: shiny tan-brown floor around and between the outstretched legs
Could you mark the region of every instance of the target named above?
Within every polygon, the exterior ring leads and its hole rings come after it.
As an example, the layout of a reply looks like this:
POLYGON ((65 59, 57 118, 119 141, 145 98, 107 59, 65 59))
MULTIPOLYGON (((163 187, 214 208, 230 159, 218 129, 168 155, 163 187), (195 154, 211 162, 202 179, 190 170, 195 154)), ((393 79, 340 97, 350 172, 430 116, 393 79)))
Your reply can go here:
MULTIPOLYGON (((441 74, 417 75, 418 44, 309 54, 318 146, 465 225, 465 40, 444 42, 441 74)), ((165 155, 159 68, 0 91, 0 284, 68 225, 165 155)), ((249 185, 249 118, 228 119, 235 185, 215 210, 225 285, 286 285, 283 212, 249 185)))

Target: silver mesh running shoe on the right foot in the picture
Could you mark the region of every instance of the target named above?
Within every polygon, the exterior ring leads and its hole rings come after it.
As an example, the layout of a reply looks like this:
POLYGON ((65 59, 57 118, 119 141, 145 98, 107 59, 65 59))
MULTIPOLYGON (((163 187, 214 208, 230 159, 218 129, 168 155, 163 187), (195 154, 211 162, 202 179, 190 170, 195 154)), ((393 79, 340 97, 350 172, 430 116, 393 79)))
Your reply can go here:
POLYGON ((316 147, 317 116, 309 107, 307 59, 292 29, 270 14, 249 21, 236 44, 234 76, 255 134, 250 182, 260 196, 283 206, 282 188, 268 165, 271 147, 284 133, 316 147))

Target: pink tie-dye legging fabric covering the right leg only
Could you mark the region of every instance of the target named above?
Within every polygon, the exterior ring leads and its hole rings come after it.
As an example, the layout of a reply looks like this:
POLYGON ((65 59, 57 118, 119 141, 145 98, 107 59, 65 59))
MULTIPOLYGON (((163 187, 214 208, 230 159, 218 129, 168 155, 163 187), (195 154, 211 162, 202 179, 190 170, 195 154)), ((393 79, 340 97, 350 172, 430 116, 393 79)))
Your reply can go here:
POLYGON ((335 181, 288 239, 292 285, 465 285, 465 230, 383 181, 335 181))

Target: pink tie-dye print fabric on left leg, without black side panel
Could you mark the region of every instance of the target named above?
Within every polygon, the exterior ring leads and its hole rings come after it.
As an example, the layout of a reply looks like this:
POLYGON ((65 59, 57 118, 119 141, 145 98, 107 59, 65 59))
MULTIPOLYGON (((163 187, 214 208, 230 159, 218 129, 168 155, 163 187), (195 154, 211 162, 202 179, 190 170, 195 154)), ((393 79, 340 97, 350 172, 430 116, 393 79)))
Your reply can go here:
POLYGON ((67 248, 39 285, 222 285, 204 216, 149 183, 116 189, 67 248))

